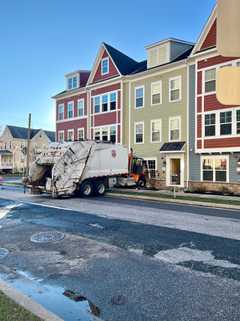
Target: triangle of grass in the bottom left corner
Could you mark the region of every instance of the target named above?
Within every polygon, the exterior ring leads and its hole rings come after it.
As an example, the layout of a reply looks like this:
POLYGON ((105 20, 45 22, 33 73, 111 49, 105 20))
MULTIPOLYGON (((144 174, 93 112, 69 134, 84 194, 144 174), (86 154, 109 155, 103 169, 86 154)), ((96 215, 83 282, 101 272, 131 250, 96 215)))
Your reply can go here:
POLYGON ((0 291, 0 321, 42 321, 0 291))

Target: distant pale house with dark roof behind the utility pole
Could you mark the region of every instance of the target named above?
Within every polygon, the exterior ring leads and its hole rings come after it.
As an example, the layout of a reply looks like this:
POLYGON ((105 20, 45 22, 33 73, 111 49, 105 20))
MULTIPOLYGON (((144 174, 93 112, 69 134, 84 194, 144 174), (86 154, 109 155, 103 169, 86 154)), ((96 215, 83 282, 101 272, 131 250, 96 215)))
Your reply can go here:
MULTIPOLYGON (((27 161, 28 129, 7 125, 0 136, 0 171, 22 173, 27 161)), ((55 141, 55 132, 32 129, 30 135, 30 162, 55 141)))

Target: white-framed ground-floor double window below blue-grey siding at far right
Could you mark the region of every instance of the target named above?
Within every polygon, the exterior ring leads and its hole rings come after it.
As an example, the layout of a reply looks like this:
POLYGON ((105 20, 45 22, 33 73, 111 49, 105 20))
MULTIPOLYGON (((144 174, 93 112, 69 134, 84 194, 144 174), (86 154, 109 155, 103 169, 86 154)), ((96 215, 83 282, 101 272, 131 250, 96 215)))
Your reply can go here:
POLYGON ((210 182, 228 181, 228 158, 204 157, 202 159, 202 180, 210 182))

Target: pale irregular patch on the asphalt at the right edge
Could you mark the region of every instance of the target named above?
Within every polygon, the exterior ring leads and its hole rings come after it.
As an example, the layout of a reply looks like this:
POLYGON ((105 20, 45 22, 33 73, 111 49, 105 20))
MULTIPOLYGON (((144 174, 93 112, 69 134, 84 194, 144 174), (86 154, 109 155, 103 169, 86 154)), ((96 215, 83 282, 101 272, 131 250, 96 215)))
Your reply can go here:
POLYGON ((172 264, 195 261, 222 268, 240 269, 240 265, 238 264, 233 264, 227 260, 215 259, 211 251, 201 251, 187 247, 160 251, 154 257, 160 261, 165 261, 172 264))

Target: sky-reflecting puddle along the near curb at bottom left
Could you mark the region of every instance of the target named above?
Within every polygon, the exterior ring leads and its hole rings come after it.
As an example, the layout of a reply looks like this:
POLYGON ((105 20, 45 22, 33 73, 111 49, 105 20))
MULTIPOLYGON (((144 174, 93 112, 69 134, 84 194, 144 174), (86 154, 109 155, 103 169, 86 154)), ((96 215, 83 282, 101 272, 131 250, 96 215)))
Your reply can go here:
POLYGON ((14 275, 0 274, 0 279, 32 298, 64 321, 97 321, 100 310, 87 299, 78 302, 63 295, 65 289, 50 285, 19 271, 14 275))

